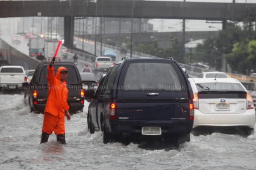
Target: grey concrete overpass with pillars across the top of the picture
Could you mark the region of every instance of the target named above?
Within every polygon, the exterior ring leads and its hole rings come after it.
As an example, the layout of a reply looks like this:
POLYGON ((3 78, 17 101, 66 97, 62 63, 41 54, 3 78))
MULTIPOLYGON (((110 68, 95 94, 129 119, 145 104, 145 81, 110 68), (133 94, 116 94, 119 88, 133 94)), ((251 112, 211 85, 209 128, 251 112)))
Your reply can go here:
POLYGON ((209 2, 168 2, 137 0, 0 1, 0 17, 63 16, 64 42, 73 46, 74 17, 198 19, 241 21, 246 4, 209 2), (132 12, 133 11, 133 12, 132 12))

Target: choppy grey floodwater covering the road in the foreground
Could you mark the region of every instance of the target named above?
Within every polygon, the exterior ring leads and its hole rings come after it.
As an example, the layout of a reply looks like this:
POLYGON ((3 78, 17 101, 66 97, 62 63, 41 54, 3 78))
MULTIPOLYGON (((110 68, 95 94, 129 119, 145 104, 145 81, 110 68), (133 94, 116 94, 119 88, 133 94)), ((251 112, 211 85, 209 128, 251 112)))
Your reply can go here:
POLYGON ((87 108, 65 122, 66 142, 54 133, 40 144, 43 114, 31 113, 23 93, 0 92, 0 169, 241 170, 256 169, 256 133, 249 137, 191 135, 179 147, 161 143, 103 144, 87 129, 87 108))

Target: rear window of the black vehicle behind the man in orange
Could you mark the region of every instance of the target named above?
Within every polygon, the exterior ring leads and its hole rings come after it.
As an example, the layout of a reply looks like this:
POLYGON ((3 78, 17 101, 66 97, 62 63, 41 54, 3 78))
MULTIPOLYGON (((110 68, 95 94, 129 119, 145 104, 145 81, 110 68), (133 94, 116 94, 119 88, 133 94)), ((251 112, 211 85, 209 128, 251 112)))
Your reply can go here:
MULTIPOLYGON (((58 68, 61 66, 54 66, 54 72, 55 72, 55 76, 56 76, 56 72, 58 70, 58 68)), ((68 77, 66 78, 66 84, 79 84, 79 79, 78 79, 78 75, 76 74, 76 70, 75 68, 73 68, 73 66, 64 66, 68 71, 68 77)), ((41 71, 40 75, 39 75, 39 81, 38 84, 48 84, 47 81, 47 67, 43 67, 43 70, 41 71)))

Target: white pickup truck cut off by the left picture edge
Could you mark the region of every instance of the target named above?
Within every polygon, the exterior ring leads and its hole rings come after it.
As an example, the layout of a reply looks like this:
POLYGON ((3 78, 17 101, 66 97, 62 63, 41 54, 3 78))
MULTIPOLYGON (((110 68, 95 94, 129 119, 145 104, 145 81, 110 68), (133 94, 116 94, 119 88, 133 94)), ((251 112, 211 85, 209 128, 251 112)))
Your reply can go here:
POLYGON ((21 89, 24 82, 27 82, 27 77, 22 66, 5 65, 0 67, 1 90, 21 89))

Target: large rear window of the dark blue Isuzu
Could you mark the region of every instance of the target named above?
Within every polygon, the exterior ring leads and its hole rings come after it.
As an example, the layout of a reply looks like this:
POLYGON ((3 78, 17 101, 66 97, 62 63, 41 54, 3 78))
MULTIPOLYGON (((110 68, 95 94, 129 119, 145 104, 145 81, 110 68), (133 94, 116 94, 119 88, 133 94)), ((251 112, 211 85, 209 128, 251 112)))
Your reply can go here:
POLYGON ((185 79, 175 63, 129 62, 120 77, 120 90, 186 91, 185 79))

